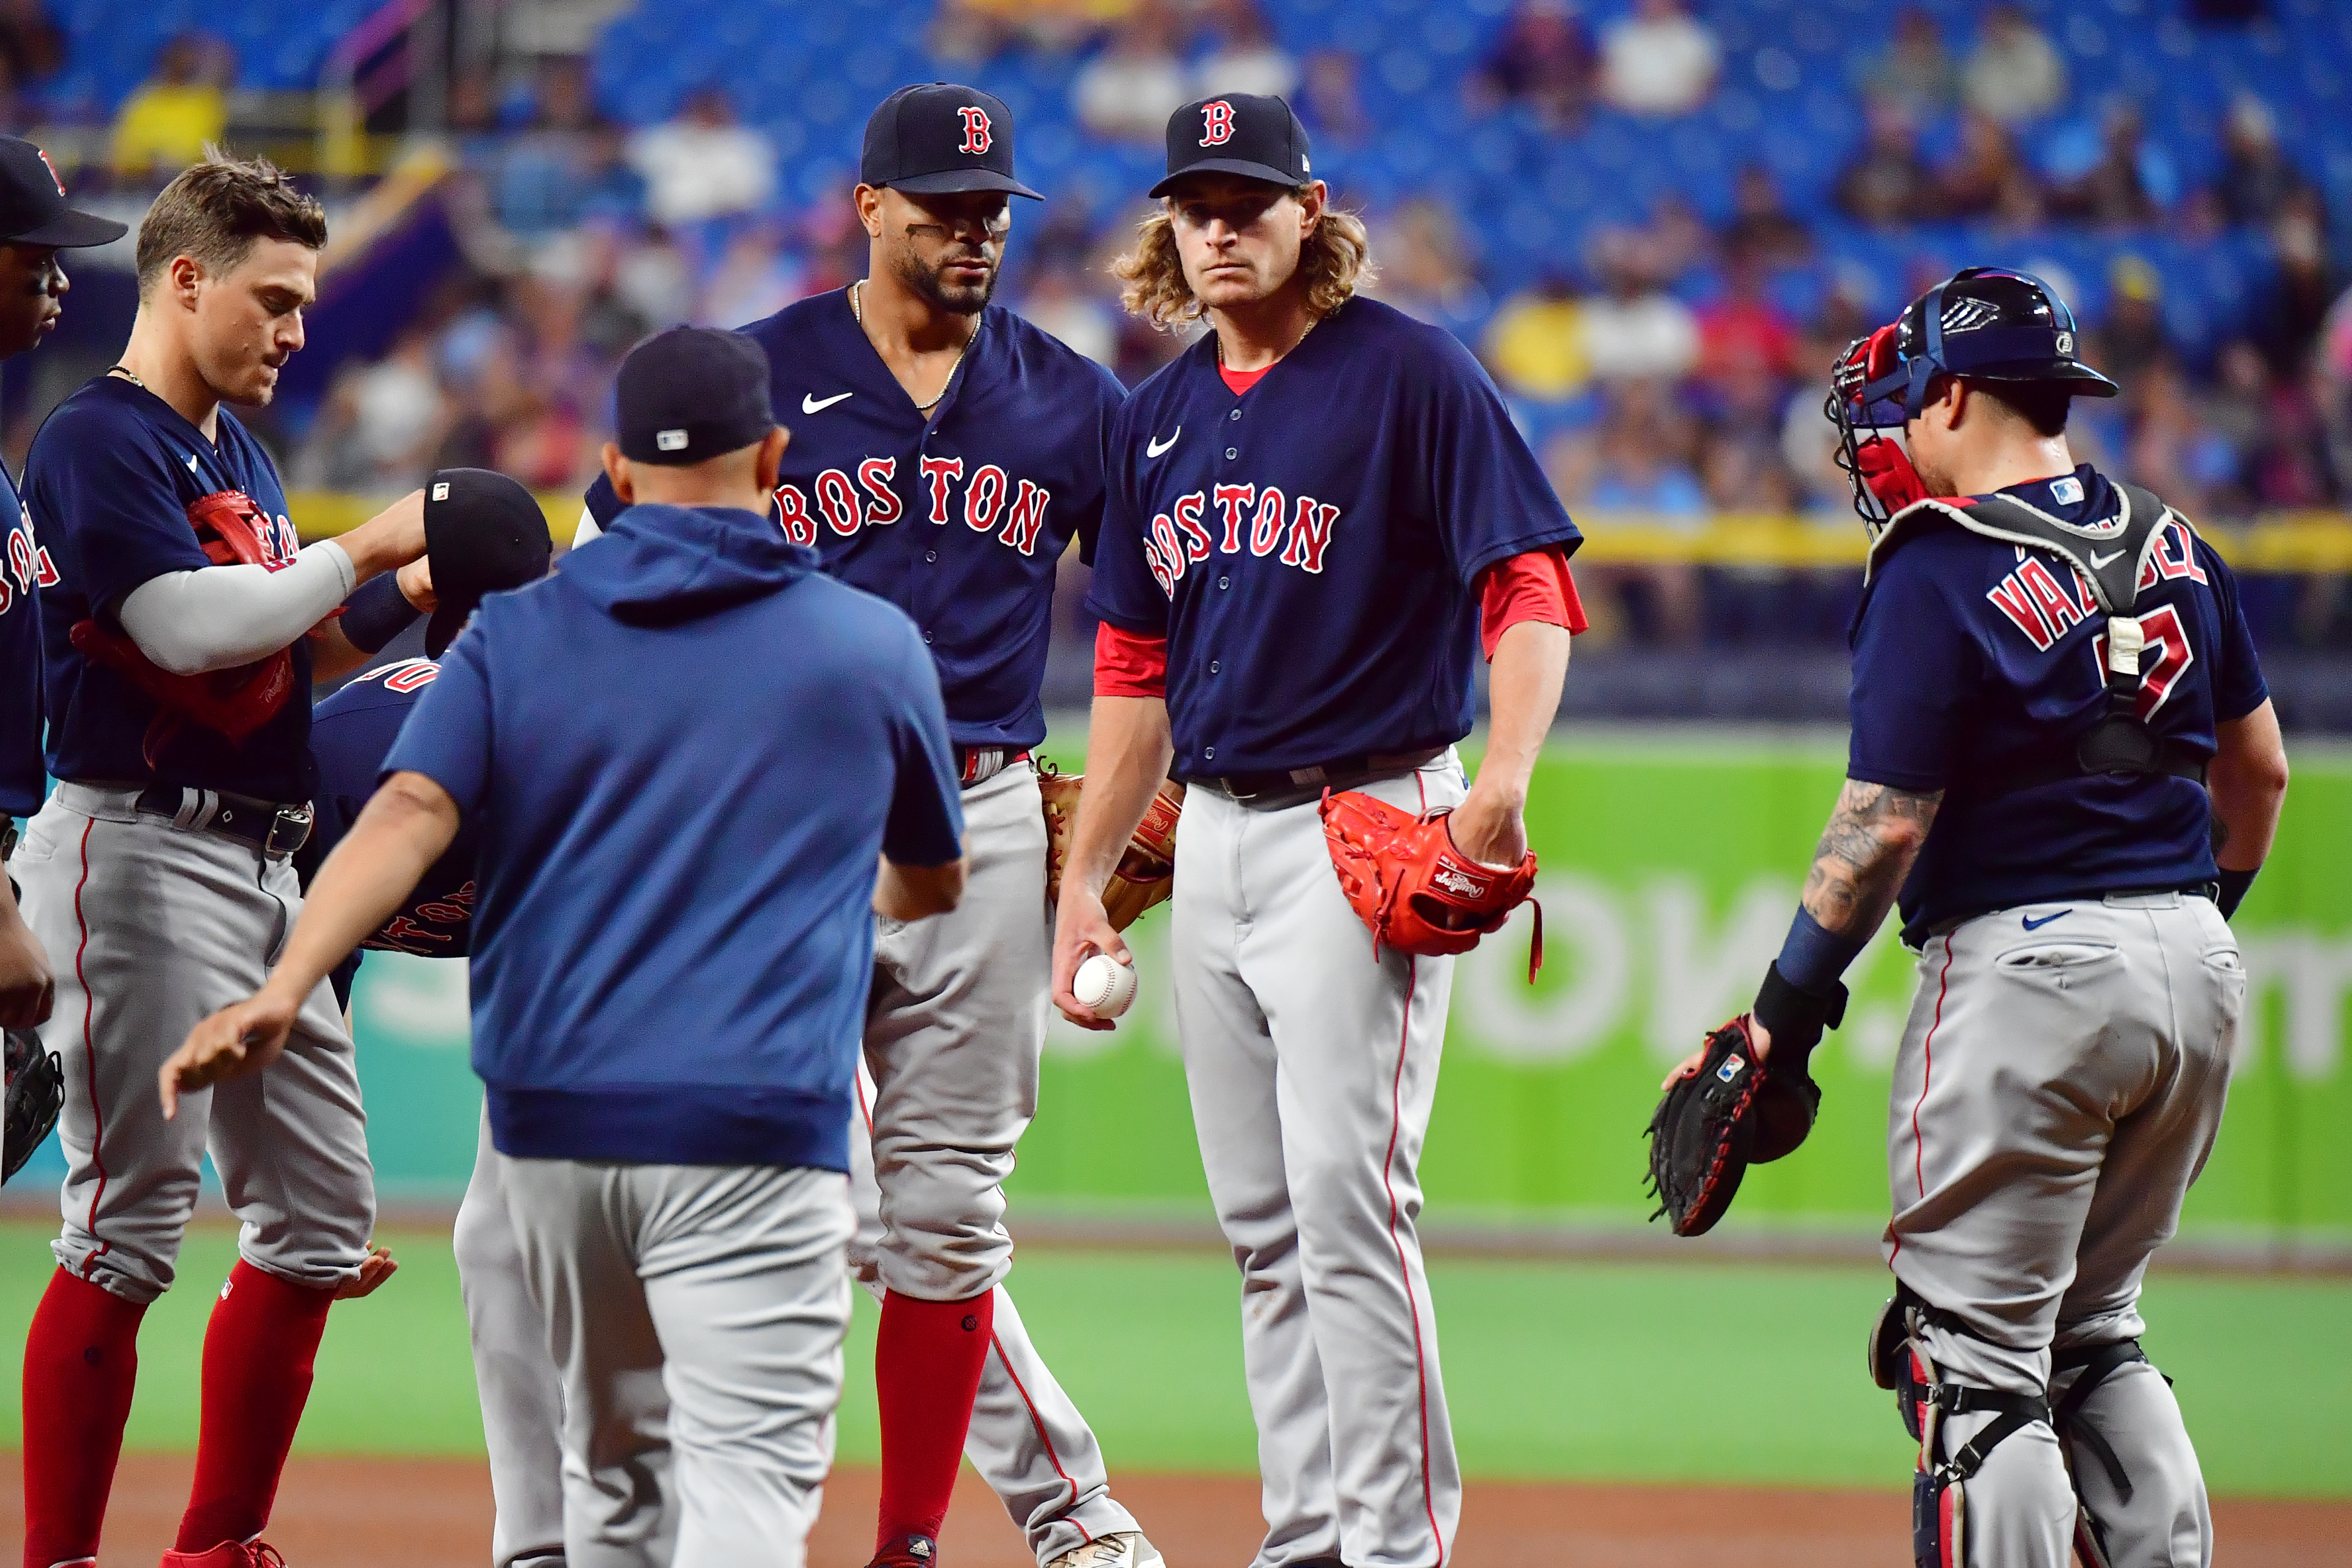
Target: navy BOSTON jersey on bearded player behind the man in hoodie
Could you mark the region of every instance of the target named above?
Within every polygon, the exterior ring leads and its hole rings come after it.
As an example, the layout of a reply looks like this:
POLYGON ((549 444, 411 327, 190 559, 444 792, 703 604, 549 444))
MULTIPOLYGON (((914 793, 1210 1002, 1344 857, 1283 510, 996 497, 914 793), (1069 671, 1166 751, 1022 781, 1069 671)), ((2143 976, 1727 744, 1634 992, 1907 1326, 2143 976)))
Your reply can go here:
MULTIPOLYGON (((1054 569, 1073 536, 1094 557, 1120 383, 1002 306, 981 313, 929 418, 866 341, 847 289, 743 334, 767 350, 776 418, 793 433, 776 487, 783 531, 915 621, 957 745, 1044 741, 1054 569)), ((597 527, 619 510, 597 480, 597 527)))

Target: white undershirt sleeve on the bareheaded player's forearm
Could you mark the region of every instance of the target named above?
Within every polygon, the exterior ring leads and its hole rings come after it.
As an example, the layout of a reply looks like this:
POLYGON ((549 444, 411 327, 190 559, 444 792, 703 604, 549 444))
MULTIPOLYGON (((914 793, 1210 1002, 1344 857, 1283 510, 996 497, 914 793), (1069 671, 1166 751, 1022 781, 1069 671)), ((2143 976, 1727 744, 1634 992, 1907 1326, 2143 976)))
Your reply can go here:
POLYGON ((202 567, 139 583, 115 618, 172 675, 205 675, 268 658, 350 597, 358 571, 343 545, 303 545, 292 567, 202 567))

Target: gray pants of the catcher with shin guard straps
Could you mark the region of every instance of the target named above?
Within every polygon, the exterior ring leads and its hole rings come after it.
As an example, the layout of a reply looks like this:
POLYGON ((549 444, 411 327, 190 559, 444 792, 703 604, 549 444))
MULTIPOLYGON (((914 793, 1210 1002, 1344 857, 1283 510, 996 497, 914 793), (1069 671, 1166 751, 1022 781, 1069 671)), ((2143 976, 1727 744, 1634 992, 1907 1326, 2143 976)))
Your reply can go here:
MULTIPOLYGON (((1999 910, 1926 943, 1889 1117, 1893 1272, 1962 1331, 1929 1326, 1952 1382, 2056 1401, 2051 1352, 2138 1338, 2140 1279, 2173 1237, 2230 1091, 2246 971, 2204 898, 2110 896, 1999 910)), ((1945 1422, 1945 1455, 1994 1415, 1945 1422)), ((2171 1387, 2131 1363, 2079 1439, 2027 1425, 1966 1483, 1976 1568, 2065 1568, 2074 1488, 2114 1568, 2213 1561, 2197 1450, 2171 1387)))

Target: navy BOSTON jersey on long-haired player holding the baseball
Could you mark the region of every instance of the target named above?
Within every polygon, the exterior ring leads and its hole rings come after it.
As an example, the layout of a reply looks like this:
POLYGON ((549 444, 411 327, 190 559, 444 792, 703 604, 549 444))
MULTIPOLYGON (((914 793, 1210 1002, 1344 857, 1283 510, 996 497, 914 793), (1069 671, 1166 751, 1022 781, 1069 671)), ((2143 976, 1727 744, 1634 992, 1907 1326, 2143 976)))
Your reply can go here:
POLYGON ((1470 733, 1494 562, 1583 543, 1477 360, 1355 299, 1235 395, 1204 336, 1120 409, 1089 609, 1167 637, 1178 778, 1470 733))

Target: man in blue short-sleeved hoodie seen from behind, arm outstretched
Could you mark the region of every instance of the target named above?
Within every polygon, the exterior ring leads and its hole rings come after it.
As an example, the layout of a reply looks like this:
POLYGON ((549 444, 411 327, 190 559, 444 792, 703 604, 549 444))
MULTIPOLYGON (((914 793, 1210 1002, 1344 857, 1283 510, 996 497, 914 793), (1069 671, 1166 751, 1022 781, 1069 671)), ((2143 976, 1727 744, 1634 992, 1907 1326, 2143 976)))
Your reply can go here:
POLYGON ((797 1568, 849 1324, 868 910, 955 907, 957 785, 915 628, 764 515, 760 348, 659 334, 616 404, 612 538, 475 611, 270 983, 162 1091, 268 1060, 477 818, 473 1048, 562 1368, 567 1561, 797 1568))

